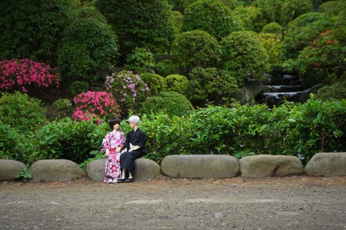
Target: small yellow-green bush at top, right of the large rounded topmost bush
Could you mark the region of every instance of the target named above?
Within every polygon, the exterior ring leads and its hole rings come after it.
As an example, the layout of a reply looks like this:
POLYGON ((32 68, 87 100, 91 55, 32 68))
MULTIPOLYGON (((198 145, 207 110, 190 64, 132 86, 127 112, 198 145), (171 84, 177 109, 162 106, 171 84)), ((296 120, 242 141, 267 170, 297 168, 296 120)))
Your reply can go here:
POLYGON ((263 26, 266 24, 266 20, 262 16, 262 8, 253 6, 237 7, 233 10, 233 13, 242 21, 245 30, 261 32, 263 26))

